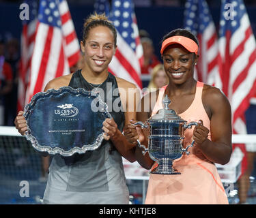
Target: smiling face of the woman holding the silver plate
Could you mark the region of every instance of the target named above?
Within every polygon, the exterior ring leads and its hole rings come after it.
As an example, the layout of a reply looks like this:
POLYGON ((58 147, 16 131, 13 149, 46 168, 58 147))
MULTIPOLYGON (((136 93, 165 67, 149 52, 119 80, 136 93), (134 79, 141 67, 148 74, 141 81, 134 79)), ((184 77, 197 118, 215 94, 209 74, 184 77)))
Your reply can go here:
POLYGON ((85 70, 94 73, 107 72, 109 63, 115 55, 114 35, 104 26, 94 27, 89 31, 85 44, 81 42, 85 54, 85 70))

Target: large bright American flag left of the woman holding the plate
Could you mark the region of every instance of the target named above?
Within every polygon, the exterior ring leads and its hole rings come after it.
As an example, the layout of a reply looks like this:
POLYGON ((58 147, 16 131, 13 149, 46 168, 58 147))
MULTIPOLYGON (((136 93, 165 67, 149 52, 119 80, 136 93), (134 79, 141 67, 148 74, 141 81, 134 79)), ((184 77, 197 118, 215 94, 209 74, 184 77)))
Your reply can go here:
POLYGON ((80 57, 79 41, 66 0, 40 1, 26 99, 53 78, 70 73, 80 57))

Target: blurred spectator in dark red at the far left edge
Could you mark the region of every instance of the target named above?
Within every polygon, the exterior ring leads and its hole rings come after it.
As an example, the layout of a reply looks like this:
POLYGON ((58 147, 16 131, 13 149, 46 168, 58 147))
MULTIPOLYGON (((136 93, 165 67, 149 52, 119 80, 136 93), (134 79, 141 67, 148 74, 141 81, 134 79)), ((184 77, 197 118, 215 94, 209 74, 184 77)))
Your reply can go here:
POLYGON ((12 67, 5 61, 5 43, 0 40, 0 125, 6 125, 4 123, 4 117, 6 114, 5 105, 6 97, 8 93, 12 91, 12 67))

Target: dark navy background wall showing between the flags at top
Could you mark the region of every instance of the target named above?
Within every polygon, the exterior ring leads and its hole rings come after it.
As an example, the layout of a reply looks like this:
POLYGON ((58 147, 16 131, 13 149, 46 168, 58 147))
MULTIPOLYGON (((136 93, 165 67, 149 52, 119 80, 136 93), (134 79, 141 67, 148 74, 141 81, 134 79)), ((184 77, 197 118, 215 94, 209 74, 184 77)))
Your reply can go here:
MULTIPOLYGON (((216 1, 217 2, 217 1, 216 1)), ((221 1, 220 1, 221 2, 221 1)), ((0 34, 11 34, 13 37, 20 38, 22 29, 21 20, 19 19, 20 3, 12 1, 0 1, 0 34)), ((81 39, 83 21, 85 18, 94 12, 94 6, 89 4, 79 4, 72 1, 69 3, 70 12, 76 29, 76 33, 81 39)), ((251 20, 253 31, 256 35, 256 6, 246 5, 248 16, 251 20)), ((221 4, 215 3, 210 7, 210 12, 218 28, 218 21, 221 11, 221 4)), ((184 6, 171 7, 171 6, 150 6, 150 7, 137 7, 135 6, 135 13, 139 29, 145 29, 150 33, 154 42, 156 55, 159 56, 160 40, 165 33, 183 26, 184 6)))

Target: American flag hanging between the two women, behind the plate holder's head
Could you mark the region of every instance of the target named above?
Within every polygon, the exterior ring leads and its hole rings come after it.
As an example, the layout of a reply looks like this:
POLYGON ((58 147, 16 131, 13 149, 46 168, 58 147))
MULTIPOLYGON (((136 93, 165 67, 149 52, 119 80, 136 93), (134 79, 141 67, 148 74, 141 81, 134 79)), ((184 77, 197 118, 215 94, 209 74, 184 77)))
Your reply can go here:
POLYGON ((109 64, 109 72, 142 88, 143 48, 132 0, 113 0, 110 19, 117 29, 117 51, 109 64))

